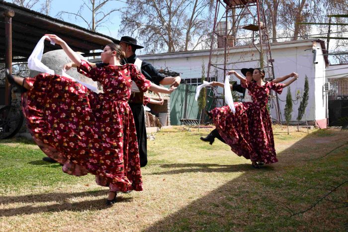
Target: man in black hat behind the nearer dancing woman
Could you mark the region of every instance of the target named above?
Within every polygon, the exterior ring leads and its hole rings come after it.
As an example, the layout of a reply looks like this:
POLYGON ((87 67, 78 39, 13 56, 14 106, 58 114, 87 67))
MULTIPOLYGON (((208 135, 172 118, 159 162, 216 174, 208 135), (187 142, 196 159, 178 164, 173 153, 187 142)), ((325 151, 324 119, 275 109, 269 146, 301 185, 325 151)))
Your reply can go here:
MULTIPOLYGON (((121 62, 122 64, 134 64, 139 71, 142 72, 145 78, 154 82, 155 84, 170 84, 171 86, 177 87, 181 81, 179 76, 177 77, 165 77, 160 74, 150 63, 141 61, 135 55, 137 49, 144 48, 137 44, 137 40, 130 36, 122 36, 120 40, 115 41, 119 44, 122 50, 125 52, 125 58, 121 62)), ((131 107, 135 127, 137 131, 139 155, 140 155, 140 166, 143 167, 147 164, 147 137, 146 137, 146 126, 145 126, 145 114, 143 108, 144 93, 137 91, 136 86, 132 86, 132 93, 129 100, 129 106, 131 107)))

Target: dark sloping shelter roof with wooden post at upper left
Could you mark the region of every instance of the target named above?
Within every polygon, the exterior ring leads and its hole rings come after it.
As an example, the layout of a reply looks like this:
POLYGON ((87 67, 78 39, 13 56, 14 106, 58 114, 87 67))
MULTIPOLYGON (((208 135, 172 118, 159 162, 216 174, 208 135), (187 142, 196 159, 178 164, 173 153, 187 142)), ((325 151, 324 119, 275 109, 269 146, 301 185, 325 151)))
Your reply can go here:
MULTIPOLYGON (((25 62, 44 34, 56 34, 83 56, 93 56, 93 50, 115 41, 114 38, 93 32, 39 12, 0 0, 0 63, 12 72, 12 62, 25 62), (18 57, 13 59, 13 57, 18 57)), ((45 52, 61 49, 45 42, 45 52)), ((9 83, 5 84, 5 103, 8 104, 9 83)), ((2 97, 2 96, 1 96, 2 97)))

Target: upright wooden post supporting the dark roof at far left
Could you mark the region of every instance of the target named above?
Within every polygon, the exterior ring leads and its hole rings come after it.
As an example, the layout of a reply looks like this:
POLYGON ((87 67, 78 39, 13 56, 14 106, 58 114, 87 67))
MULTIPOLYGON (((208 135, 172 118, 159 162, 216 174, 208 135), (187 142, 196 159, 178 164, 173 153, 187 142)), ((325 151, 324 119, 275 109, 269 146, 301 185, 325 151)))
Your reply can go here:
MULTIPOLYGON (((12 17, 13 10, 6 10, 3 12, 5 18, 5 68, 12 74, 12 17)), ((11 85, 7 78, 5 82, 5 104, 8 105, 11 99, 11 85)))

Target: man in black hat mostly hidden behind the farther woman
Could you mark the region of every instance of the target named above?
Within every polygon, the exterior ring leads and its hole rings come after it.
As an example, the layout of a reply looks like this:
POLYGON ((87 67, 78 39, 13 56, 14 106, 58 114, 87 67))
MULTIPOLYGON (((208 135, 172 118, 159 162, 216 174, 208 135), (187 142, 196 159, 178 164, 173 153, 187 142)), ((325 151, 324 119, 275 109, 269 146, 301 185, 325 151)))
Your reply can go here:
MULTIPOLYGON (((242 74, 246 77, 248 81, 253 80, 254 69, 241 69, 242 74)), ((213 81, 212 86, 220 86, 224 87, 224 84, 221 82, 213 81)), ((245 102, 252 102, 252 97, 248 94, 248 89, 242 87, 241 84, 234 83, 230 84, 231 90, 237 91, 243 94, 243 98, 245 102)), ((207 137, 200 137, 200 139, 204 142, 209 142, 210 145, 214 143, 215 138, 219 139, 221 142, 225 143, 225 140, 220 136, 219 132, 214 129, 212 130, 207 137)))

